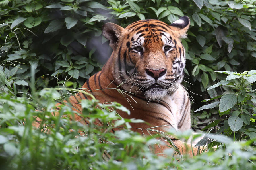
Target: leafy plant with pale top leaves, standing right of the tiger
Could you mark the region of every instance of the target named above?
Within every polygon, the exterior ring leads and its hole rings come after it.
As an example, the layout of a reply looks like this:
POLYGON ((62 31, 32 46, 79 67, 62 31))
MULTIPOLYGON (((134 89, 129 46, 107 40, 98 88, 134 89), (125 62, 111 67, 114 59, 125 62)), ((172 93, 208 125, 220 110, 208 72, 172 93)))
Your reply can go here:
MULTIPOLYGON (((234 140, 256 139, 256 89, 253 90, 253 82, 256 81, 256 70, 237 73, 234 71, 216 71, 218 73, 228 74, 226 80, 221 80, 208 89, 223 86, 226 91, 219 96, 203 100, 203 102, 214 101, 204 105, 195 112, 203 109, 211 109, 219 106, 219 115, 223 119, 217 119, 211 122, 202 130, 214 127, 218 124, 222 126, 218 133, 230 136, 233 134, 234 140), (228 116, 229 115, 229 116, 228 116), (226 117, 226 118, 225 118, 226 117)), ((255 141, 254 141, 254 144, 255 141)))

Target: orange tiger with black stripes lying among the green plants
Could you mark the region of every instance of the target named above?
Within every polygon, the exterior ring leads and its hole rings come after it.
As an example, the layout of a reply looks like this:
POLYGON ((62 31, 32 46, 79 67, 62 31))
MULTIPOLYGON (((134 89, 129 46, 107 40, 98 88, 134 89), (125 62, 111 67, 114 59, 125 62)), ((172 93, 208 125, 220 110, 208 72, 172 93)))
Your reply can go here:
MULTIPOLYGON (((142 135, 150 135, 146 130, 158 131, 191 129, 190 100, 181 85, 185 68, 185 48, 181 38, 187 36, 189 17, 183 16, 168 25, 160 20, 146 19, 133 22, 123 28, 114 23, 102 26, 103 36, 109 40, 113 52, 102 67, 82 86, 100 103, 118 102, 130 110, 117 111, 122 118, 141 119, 146 123, 130 123, 131 129, 142 135), (132 100, 121 95, 116 89, 129 92, 132 100)), ((76 111, 81 111, 80 101, 90 99, 82 92, 69 98, 76 111)), ((81 121, 80 116, 75 116, 81 121)), ((84 121, 86 123, 86 121, 84 121)), ((98 122, 96 122, 98 123, 98 122)), ((113 132, 118 128, 113 128, 113 132)), ((197 148, 170 137, 179 150, 193 155, 197 148), (192 148, 192 149, 191 149, 192 148)), ((155 147, 154 153, 162 153, 170 148, 168 141, 155 147)))

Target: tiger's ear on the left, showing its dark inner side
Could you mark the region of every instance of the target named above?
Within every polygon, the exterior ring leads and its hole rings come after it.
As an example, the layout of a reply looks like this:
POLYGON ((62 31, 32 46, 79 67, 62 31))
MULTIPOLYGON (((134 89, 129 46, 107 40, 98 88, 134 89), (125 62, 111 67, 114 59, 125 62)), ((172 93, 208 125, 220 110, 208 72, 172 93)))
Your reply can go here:
POLYGON ((127 33, 126 29, 112 22, 107 22, 102 26, 102 34, 106 39, 110 41, 109 46, 113 50, 117 48, 119 40, 123 38, 125 33, 127 33))

